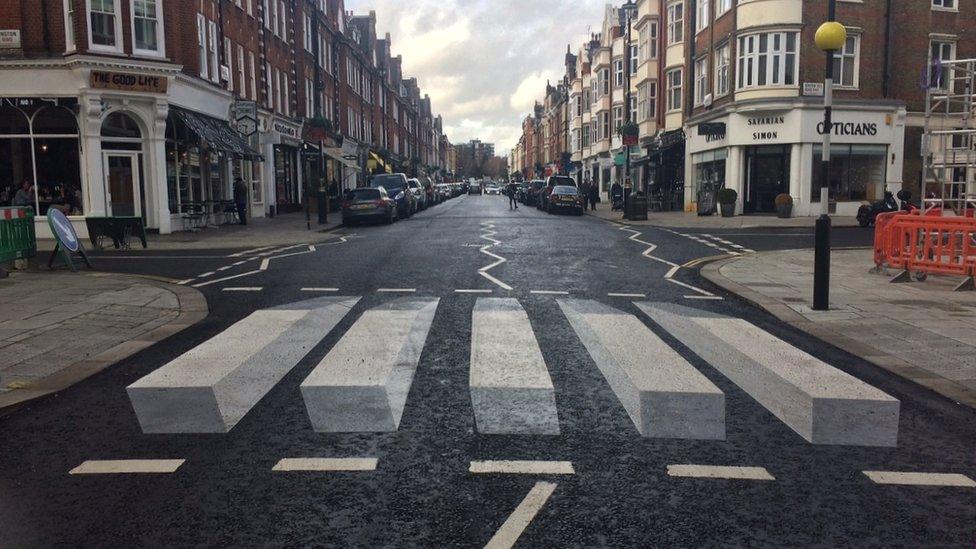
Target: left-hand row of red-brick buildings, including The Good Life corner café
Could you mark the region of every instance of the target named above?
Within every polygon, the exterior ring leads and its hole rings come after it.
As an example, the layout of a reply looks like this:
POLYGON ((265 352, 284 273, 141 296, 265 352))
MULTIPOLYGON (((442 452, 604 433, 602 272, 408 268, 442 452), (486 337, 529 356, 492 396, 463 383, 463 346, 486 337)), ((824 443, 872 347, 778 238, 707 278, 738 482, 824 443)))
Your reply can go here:
POLYGON ((420 142, 440 170, 375 20, 342 0, 0 0, 0 190, 35 185, 42 235, 64 196, 83 236, 105 215, 169 233, 229 221, 238 177, 261 217, 422 175, 420 142))

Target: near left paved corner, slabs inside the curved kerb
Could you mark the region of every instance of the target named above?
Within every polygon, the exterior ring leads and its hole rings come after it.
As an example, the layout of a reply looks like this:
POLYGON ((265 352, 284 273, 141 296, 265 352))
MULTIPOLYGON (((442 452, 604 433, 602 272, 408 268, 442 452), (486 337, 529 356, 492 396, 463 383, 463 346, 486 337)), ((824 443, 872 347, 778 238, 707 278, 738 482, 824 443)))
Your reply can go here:
POLYGON ((142 277, 15 271, 0 280, 0 413, 203 320, 200 292, 142 277))

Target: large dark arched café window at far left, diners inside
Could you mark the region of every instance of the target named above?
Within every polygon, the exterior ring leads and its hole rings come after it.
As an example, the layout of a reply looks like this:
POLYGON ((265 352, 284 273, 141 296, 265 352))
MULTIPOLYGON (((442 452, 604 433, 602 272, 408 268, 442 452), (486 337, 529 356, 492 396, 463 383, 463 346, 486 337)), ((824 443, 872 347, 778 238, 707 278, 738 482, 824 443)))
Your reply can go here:
POLYGON ((55 105, 0 107, 0 206, 84 214, 78 124, 55 105))

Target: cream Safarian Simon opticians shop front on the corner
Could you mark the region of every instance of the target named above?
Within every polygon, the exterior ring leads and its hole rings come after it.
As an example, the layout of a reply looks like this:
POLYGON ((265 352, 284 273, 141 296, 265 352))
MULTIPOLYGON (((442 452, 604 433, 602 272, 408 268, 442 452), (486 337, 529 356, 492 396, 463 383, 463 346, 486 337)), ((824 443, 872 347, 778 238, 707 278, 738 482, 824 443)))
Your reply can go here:
POLYGON ((823 109, 816 102, 727 113, 689 126, 692 185, 686 200, 721 187, 738 195, 737 213, 771 214, 776 197, 788 194, 796 216, 821 211, 826 187, 829 209, 856 215, 863 201, 901 188, 905 108, 897 103, 842 103, 834 108, 830 177, 823 180, 823 109))

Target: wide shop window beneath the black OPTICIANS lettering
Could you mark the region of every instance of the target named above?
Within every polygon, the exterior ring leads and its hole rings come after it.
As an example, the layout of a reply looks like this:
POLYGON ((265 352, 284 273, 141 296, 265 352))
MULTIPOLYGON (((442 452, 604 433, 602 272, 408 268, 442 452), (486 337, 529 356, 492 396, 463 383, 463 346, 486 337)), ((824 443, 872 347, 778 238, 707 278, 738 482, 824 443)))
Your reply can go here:
POLYGON ((884 196, 887 178, 886 145, 833 145, 830 148, 830 184, 823 181, 821 159, 823 147, 813 147, 813 185, 811 202, 820 202, 820 189, 830 189, 837 202, 878 200, 884 196))

